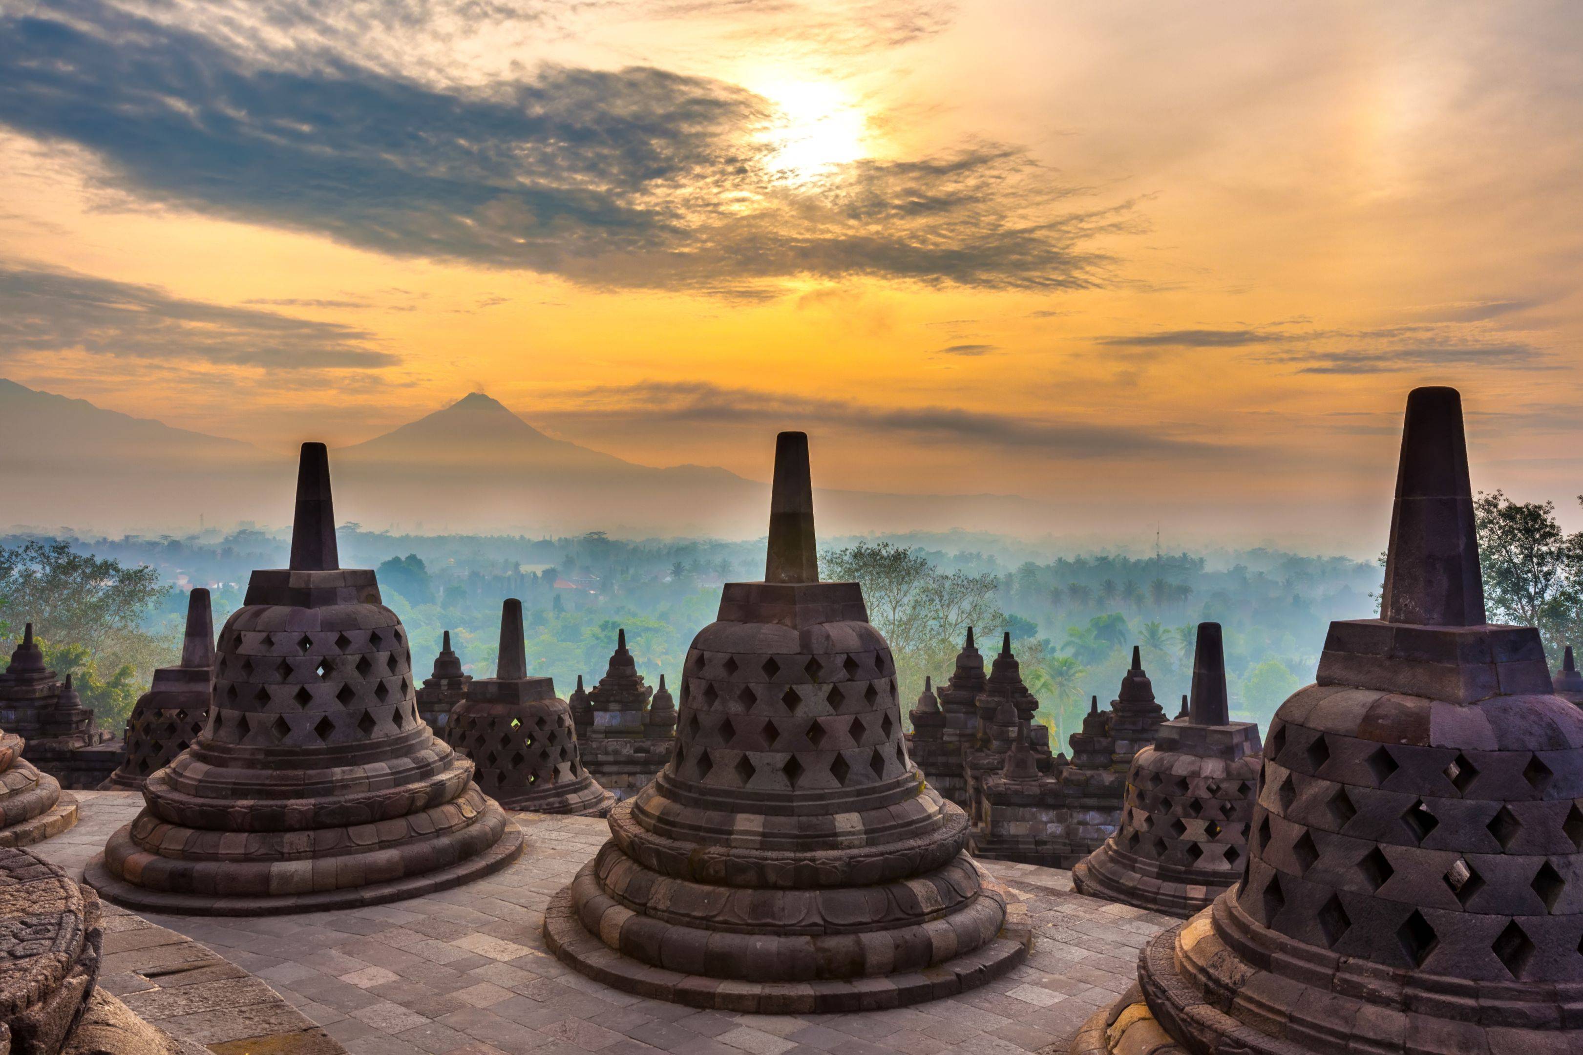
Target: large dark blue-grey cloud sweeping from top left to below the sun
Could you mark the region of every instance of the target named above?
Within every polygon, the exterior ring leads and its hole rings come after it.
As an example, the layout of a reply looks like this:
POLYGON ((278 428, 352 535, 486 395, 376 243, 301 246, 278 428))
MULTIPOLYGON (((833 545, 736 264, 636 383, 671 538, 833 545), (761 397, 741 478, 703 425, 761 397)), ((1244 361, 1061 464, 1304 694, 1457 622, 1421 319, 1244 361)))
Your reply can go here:
POLYGON ((85 147, 147 203, 609 288, 1084 288, 1110 263, 1091 239, 1129 220, 1073 211, 999 144, 799 187, 761 135, 769 103, 704 78, 545 67, 432 86, 331 51, 239 48, 104 0, 6 14, 0 122, 85 147))

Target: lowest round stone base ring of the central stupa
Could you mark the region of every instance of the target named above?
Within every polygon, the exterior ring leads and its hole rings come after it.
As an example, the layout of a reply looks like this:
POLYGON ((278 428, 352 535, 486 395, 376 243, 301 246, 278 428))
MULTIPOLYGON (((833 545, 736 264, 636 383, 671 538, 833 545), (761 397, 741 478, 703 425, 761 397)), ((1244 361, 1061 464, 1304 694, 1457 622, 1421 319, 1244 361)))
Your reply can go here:
MULTIPOLYGON (((589 868, 579 873, 579 879, 589 868)), ((573 884, 575 886, 575 884, 573 884)), ((573 887, 565 887, 545 909, 545 941, 556 957, 595 982, 636 996, 733 1014, 837 1014, 883 1011, 964 993, 1004 976, 1027 958, 1032 928, 1027 911, 1004 887, 985 881, 1007 900, 1005 922, 996 938, 962 955, 921 971, 850 981, 742 982, 649 966, 616 952, 583 925, 573 887)))

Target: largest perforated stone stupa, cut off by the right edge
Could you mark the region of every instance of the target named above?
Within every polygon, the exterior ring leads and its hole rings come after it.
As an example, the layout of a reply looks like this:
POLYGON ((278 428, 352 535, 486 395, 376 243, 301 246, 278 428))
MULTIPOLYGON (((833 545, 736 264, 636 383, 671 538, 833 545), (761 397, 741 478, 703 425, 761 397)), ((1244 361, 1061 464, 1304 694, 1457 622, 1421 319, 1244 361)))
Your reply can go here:
POLYGON ((1583 711, 1485 623, 1452 388, 1407 398, 1380 600, 1271 721, 1243 882, 1075 1052, 1583 1050, 1583 711))

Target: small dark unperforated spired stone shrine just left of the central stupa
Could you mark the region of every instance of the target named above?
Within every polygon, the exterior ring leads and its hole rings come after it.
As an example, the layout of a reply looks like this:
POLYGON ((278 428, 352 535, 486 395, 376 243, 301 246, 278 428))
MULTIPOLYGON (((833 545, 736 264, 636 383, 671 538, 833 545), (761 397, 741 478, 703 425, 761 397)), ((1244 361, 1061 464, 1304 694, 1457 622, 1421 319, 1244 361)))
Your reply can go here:
POLYGON ((605 676, 576 700, 571 719, 583 765, 617 800, 636 795, 671 760, 676 703, 670 692, 662 700, 638 673, 625 630, 616 630, 616 651, 605 676))

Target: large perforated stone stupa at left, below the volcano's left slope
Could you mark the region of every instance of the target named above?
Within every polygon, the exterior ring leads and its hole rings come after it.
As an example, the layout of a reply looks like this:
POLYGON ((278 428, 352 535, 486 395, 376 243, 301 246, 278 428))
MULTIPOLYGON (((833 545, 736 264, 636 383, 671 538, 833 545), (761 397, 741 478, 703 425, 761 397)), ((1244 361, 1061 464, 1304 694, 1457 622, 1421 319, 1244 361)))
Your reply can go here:
POLYGON ((407 632, 340 569, 323 444, 304 444, 291 567, 253 572, 220 630, 203 735, 85 881, 130 908, 274 914, 443 890, 522 836, 418 719, 407 632))

